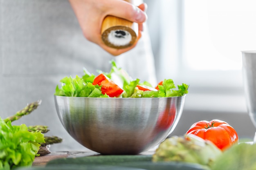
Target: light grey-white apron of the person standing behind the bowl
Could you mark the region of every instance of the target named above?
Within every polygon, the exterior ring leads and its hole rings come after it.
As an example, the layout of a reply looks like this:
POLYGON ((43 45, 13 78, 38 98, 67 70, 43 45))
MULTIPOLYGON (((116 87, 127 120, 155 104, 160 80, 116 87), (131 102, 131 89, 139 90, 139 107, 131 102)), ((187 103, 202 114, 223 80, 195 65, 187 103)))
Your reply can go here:
POLYGON ((96 75, 96 70, 108 72, 112 59, 131 77, 155 85, 154 59, 146 35, 135 49, 113 57, 83 37, 67 0, 0 0, 0 117, 42 99, 31 115, 13 124, 49 126, 46 136, 63 138, 51 151, 86 150, 58 119, 53 98, 56 85, 65 76, 83 75, 83 67, 96 75))

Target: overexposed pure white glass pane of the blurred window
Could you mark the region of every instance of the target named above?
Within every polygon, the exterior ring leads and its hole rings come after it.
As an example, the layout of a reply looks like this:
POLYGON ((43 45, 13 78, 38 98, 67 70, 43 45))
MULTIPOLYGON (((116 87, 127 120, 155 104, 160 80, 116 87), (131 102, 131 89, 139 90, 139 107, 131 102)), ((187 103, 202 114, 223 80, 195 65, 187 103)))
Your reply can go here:
POLYGON ((254 0, 183 0, 186 67, 240 70, 240 51, 256 47, 255 8, 254 0))

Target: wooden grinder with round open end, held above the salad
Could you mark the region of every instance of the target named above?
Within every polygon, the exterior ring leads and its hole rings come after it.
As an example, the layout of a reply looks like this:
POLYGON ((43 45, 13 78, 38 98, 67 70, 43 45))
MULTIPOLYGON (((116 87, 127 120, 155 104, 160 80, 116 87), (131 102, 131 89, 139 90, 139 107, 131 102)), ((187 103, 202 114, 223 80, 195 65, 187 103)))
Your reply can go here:
MULTIPOLYGON (((132 3, 132 0, 125 1, 132 3)), ((108 15, 102 22, 101 38, 109 47, 124 49, 135 43, 138 29, 136 22, 108 15)))

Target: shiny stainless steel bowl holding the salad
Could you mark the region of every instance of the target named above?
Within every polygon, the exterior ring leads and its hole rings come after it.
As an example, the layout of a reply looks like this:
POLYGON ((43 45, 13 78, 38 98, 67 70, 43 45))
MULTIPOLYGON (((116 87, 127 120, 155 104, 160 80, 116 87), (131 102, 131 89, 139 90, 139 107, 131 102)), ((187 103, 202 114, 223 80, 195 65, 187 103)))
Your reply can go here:
POLYGON ((67 132, 86 148, 106 155, 139 154, 176 127, 185 95, 162 98, 54 96, 67 132))

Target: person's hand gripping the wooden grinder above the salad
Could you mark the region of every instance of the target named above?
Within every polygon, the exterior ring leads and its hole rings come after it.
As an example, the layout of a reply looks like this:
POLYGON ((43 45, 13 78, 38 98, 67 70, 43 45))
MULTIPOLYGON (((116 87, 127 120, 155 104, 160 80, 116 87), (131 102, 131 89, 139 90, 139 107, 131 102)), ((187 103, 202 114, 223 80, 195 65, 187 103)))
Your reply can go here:
POLYGON ((85 38, 101 46, 102 49, 112 55, 120 55, 134 48, 143 31, 143 22, 147 15, 144 12, 146 4, 140 4, 136 7, 124 0, 69 0, 78 19, 85 38), (101 24, 107 15, 113 15, 124 18, 131 22, 137 22, 139 31, 137 40, 132 46, 125 49, 114 49, 104 44, 101 39, 101 24))

